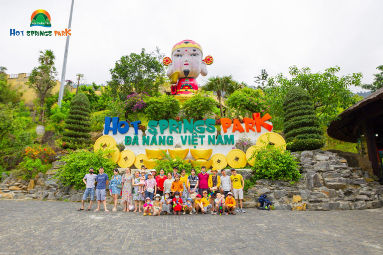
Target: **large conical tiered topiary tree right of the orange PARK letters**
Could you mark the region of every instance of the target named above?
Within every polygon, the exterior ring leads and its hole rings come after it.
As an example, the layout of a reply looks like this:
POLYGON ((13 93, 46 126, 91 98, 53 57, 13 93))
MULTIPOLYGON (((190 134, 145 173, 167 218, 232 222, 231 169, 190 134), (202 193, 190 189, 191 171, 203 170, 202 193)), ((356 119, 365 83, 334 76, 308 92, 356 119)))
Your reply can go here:
POLYGON ((324 146, 320 128, 310 95, 300 87, 292 87, 283 99, 284 129, 287 149, 291 151, 314 150, 324 146))

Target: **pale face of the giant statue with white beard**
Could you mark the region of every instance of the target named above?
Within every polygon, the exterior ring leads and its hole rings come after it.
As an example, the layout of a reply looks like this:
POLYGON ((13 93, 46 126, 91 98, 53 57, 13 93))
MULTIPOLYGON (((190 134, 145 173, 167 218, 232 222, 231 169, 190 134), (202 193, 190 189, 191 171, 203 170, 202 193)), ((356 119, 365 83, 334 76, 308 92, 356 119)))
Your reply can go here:
POLYGON ((173 72, 179 71, 180 78, 197 78, 202 69, 202 52, 193 47, 179 48, 172 55, 173 72))

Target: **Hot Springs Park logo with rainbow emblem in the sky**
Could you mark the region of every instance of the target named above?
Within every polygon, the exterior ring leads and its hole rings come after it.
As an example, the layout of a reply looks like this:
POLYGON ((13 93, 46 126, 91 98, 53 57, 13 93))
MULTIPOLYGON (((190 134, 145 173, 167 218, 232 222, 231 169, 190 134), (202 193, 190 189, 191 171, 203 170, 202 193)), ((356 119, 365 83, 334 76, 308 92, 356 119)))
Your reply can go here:
POLYGON ((30 27, 33 26, 33 29, 36 30, 17 30, 15 28, 9 29, 10 36, 70 36, 71 30, 70 28, 65 28, 63 30, 45 30, 46 27, 51 27, 50 23, 50 15, 46 10, 38 9, 33 11, 30 16, 30 27))

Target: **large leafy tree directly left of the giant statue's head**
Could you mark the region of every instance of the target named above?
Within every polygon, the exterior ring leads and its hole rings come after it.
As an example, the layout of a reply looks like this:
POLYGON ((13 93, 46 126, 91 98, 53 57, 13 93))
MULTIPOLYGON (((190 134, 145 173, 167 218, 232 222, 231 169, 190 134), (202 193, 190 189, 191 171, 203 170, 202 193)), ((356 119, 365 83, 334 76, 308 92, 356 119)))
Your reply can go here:
POLYGON ((108 85, 112 94, 118 95, 121 100, 133 92, 156 95, 159 86, 164 83, 164 66, 155 56, 146 53, 145 49, 140 54, 122 56, 109 72, 112 78, 108 85))

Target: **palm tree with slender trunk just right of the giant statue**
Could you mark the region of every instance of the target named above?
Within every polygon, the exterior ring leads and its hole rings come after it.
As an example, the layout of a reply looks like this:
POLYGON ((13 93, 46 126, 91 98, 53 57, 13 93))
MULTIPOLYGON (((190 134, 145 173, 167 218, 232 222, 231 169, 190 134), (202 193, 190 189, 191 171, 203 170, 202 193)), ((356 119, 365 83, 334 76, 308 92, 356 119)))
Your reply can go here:
POLYGON ((213 91, 217 94, 219 101, 219 110, 221 111, 221 117, 223 117, 222 110, 222 97, 230 95, 236 90, 237 86, 233 78, 230 76, 223 77, 210 77, 206 85, 202 86, 203 90, 213 91))

